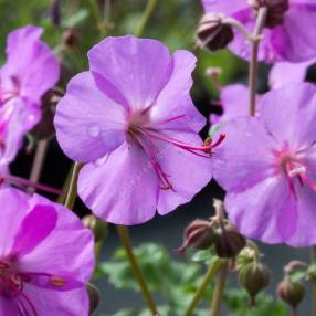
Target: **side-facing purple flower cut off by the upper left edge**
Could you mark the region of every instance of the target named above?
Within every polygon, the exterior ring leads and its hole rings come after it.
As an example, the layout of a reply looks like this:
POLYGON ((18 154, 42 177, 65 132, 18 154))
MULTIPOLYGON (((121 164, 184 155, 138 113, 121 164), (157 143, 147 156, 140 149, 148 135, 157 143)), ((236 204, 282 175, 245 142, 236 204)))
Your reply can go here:
POLYGON ((0 165, 14 159, 23 136, 40 120, 42 95, 59 80, 59 63, 40 40, 42 31, 28 25, 8 36, 0 69, 0 165))

